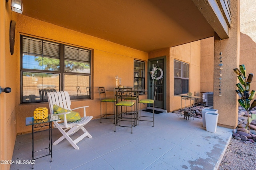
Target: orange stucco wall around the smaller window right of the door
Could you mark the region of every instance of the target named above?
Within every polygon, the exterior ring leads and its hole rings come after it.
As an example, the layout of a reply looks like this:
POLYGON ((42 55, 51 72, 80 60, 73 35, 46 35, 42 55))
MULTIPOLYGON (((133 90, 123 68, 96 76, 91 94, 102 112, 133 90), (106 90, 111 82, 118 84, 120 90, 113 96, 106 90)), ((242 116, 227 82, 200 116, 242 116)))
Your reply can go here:
MULTIPOLYGON (((160 49, 149 53, 149 59, 166 56, 166 110, 180 109, 180 97, 174 96, 174 59, 189 64, 189 92, 200 94, 200 41, 186 43, 176 47, 160 49)), ((190 103, 186 102, 186 106, 190 103)), ((185 106, 182 101, 182 107, 185 106)))

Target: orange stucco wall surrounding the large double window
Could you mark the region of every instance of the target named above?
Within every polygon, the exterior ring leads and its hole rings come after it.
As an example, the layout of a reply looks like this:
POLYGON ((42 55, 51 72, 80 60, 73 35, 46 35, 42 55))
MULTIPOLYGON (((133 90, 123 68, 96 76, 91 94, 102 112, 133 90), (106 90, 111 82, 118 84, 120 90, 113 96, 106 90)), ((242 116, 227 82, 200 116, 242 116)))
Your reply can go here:
MULTIPOLYGON (((29 18, 23 15, 17 16, 17 70, 20 69, 20 37, 19 35, 28 35, 48 39, 50 41, 61 42, 69 45, 86 47, 93 49, 92 56, 92 76, 93 76, 93 99, 73 101, 71 107, 89 106, 86 109, 87 115, 94 118, 100 116, 100 100, 98 87, 105 86, 106 89, 112 89, 116 85, 115 76, 122 78, 122 85, 133 86, 134 59, 147 61, 148 53, 131 49, 110 41, 85 35, 70 29, 59 27, 44 21, 29 18)), ((16 86, 20 89, 20 72, 16 72, 16 86)), ((107 96, 112 96, 112 92, 108 92, 107 96)), ((16 97, 20 98, 20 90, 16 97)), ((146 98, 146 94, 141 96, 146 98)), ((20 104, 17 105, 17 133, 31 131, 31 127, 25 126, 25 118, 33 115, 33 111, 37 107, 48 107, 47 103, 42 104, 20 104)), ((113 106, 108 105, 108 110, 112 111, 113 106)), ((82 111, 81 111, 82 113, 82 111)))

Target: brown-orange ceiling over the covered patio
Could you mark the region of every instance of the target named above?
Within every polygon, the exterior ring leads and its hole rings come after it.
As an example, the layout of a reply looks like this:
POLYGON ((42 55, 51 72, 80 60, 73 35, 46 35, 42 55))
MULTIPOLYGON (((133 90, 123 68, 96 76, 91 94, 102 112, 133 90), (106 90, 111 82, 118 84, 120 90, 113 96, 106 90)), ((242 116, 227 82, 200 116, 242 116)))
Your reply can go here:
POLYGON ((192 0, 23 0, 23 15, 145 52, 214 36, 192 0))

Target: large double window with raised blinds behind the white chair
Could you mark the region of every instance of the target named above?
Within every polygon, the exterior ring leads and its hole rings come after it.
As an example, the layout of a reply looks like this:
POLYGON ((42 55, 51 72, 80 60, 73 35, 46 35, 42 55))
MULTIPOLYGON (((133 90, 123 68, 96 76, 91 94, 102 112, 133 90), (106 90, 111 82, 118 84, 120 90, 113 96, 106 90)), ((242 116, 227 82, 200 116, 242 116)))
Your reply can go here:
POLYGON ((47 92, 91 98, 90 49, 21 36, 21 103, 47 102, 47 92))

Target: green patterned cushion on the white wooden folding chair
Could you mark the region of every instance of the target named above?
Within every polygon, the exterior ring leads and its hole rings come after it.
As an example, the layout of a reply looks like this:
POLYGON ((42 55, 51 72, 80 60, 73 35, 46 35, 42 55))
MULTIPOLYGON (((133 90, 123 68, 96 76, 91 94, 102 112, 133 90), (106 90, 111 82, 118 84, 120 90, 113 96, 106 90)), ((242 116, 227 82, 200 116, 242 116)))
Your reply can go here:
MULTIPOLYGON (((71 110, 64 109, 60 106, 57 106, 55 104, 53 105, 54 114, 58 115, 58 113, 65 113, 69 111, 70 113, 66 114, 67 121, 78 121, 81 119, 81 116, 77 111, 71 111, 71 110)), ((58 115, 58 117, 60 117, 60 119, 64 121, 64 115, 58 115)))

